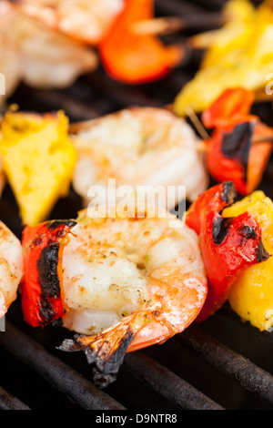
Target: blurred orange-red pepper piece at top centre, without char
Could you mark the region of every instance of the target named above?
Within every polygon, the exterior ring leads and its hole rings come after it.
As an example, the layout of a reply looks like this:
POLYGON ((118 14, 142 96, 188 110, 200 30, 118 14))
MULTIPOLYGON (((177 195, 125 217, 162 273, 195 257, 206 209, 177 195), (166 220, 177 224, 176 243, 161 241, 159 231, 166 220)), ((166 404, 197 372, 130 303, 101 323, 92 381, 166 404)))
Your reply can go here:
POLYGON ((165 46, 157 36, 137 35, 136 22, 152 19, 153 0, 126 0, 107 35, 98 45, 106 72, 127 84, 140 84, 166 76, 183 56, 179 46, 165 46))

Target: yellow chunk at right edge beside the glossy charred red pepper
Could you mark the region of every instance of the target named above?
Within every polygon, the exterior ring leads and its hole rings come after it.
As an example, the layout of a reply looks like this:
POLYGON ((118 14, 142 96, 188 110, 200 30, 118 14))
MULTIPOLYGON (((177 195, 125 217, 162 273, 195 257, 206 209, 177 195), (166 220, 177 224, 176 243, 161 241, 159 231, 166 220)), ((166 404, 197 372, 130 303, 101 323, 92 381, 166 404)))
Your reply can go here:
MULTIPOLYGON (((258 190, 224 209, 224 217, 248 211, 262 229, 262 242, 273 255, 273 203, 258 190)), ((233 284, 228 301, 233 311, 260 331, 273 326, 273 257, 242 272, 233 284)))

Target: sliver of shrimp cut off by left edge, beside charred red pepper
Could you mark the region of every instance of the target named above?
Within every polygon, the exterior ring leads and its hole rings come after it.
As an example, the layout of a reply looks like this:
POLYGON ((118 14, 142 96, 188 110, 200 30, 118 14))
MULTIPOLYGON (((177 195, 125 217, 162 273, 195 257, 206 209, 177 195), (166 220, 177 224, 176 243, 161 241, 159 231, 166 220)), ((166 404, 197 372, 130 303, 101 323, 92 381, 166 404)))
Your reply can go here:
POLYGON ((0 221, 0 318, 15 301, 23 277, 21 242, 0 221))

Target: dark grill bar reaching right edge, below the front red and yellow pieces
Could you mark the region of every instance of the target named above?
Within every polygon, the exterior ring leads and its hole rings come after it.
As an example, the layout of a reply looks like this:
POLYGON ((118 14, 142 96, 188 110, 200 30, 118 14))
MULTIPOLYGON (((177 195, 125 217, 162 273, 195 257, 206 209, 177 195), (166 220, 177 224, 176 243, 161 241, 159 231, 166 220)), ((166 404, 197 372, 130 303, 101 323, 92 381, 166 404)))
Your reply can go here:
POLYGON ((205 331, 192 324, 177 341, 194 349, 218 371, 236 379, 249 392, 257 393, 266 403, 273 404, 273 376, 248 358, 231 351, 205 331))

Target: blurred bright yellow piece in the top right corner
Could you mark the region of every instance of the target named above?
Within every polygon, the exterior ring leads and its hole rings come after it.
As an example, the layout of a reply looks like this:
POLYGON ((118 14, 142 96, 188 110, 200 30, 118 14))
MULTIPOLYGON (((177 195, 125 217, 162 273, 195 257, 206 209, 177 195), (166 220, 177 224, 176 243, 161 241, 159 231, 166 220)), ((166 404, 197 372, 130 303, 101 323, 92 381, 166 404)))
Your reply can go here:
POLYGON ((229 0, 224 14, 227 24, 215 32, 196 76, 175 98, 178 116, 187 116, 188 109, 206 110, 227 88, 266 94, 273 69, 272 8, 266 1, 255 9, 248 0, 229 0))

